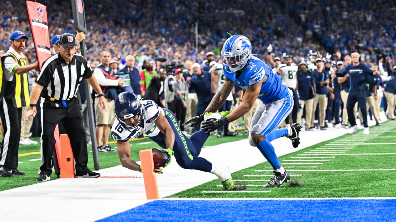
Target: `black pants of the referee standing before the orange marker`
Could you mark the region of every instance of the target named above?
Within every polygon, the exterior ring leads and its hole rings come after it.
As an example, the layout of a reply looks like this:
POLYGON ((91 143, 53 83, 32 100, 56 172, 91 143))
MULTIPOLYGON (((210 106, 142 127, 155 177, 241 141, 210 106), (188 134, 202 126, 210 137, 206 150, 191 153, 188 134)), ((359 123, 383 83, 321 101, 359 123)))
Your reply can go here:
POLYGON ((78 99, 73 97, 67 100, 67 107, 62 107, 62 103, 50 102, 48 99, 40 97, 41 107, 41 167, 39 174, 44 173, 51 175, 51 160, 55 149, 55 131, 56 124, 63 123, 66 133, 70 139, 70 145, 75 160, 76 176, 82 176, 90 170, 87 167, 88 152, 87 139, 85 135, 84 125, 82 122, 80 108, 78 107, 78 99))

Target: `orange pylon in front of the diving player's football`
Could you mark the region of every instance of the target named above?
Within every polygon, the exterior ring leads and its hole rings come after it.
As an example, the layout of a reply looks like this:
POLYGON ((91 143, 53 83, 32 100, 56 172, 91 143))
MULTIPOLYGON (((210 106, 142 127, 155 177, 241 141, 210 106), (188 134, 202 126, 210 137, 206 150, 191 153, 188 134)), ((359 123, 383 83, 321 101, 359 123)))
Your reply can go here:
POLYGON ((152 150, 145 149, 139 152, 142 164, 143 180, 145 182, 147 199, 159 199, 157 177, 154 173, 154 162, 152 160, 152 150))

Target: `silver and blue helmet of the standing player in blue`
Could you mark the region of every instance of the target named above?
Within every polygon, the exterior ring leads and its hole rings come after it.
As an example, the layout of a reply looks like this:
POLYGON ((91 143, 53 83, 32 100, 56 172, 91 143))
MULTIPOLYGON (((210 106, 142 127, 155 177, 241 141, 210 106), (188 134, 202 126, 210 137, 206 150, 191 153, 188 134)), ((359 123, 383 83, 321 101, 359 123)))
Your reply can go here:
POLYGON ((230 72, 238 71, 251 57, 251 43, 246 36, 234 35, 228 38, 221 50, 223 65, 230 72))

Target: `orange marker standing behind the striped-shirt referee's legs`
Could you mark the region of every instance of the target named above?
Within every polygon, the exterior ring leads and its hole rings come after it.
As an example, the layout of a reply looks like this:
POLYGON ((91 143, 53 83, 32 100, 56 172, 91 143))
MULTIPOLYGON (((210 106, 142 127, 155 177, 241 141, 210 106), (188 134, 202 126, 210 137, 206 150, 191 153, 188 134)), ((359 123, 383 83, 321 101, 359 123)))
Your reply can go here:
POLYGON ((74 178, 74 156, 70 139, 67 134, 61 134, 61 178, 74 178))

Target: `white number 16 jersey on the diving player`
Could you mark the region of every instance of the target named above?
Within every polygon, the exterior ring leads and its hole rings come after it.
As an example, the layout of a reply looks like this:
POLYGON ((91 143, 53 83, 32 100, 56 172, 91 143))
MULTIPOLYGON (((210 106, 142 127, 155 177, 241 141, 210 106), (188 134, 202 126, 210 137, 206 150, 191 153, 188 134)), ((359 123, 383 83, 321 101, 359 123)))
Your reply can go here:
POLYGON ((111 137, 114 140, 126 142, 129 139, 152 137, 160 133, 154 121, 159 115, 164 115, 164 110, 152 100, 140 100, 140 104, 142 111, 139 119, 143 118, 141 125, 126 129, 116 118, 111 128, 111 137))

